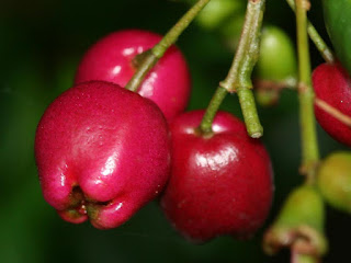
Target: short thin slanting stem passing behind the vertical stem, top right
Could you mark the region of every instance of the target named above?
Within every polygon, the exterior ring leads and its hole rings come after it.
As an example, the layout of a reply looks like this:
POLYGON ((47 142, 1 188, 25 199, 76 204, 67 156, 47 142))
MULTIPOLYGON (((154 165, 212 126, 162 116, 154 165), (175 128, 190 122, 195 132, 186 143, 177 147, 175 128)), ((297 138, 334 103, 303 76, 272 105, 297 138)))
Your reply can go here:
MULTIPOLYGON (((296 12, 295 10, 295 0, 286 0, 287 4, 291 7, 291 9, 296 12)), ((314 42, 315 46, 319 50, 322 58, 329 62, 332 64, 335 61, 335 57, 332 55, 331 49, 328 47, 326 42, 321 38, 321 36, 318 34, 316 27, 310 23, 309 20, 307 20, 307 32, 310 37, 310 39, 314 42)))

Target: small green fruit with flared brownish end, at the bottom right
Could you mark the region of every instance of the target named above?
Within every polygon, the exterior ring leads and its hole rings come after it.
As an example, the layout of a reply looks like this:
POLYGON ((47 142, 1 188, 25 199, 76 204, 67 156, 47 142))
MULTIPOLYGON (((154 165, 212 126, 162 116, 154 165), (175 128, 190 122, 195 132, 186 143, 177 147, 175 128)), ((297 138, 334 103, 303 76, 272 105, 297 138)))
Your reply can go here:
POLYGON ((303 256, 307 262, 317 262, 328 249, 324 224, 325 207, 320 194, 314 186, 302 185, 288 195, 274 224, 265 232, 263 249, 268 254, 274 254, 282 247, 288 247, 293 258, 303 256))

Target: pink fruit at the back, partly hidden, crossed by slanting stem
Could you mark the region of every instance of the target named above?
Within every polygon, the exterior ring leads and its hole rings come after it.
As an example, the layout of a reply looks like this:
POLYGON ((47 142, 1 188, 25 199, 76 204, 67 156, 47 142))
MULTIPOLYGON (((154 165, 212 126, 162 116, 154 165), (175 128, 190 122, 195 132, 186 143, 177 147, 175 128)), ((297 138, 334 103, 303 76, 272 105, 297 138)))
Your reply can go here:
MULTIPOLYGON (((152 48, 160 35, 141 30, 112 33, 95 43, 79 64, 75 83, 104 80, 125 87, 136 72, 133 58, 152 48)), ((146 76, 138 93, 154 101, 167 119, 186 107, 190 98, 190 72, 181 52, 171 46, 146 76)))

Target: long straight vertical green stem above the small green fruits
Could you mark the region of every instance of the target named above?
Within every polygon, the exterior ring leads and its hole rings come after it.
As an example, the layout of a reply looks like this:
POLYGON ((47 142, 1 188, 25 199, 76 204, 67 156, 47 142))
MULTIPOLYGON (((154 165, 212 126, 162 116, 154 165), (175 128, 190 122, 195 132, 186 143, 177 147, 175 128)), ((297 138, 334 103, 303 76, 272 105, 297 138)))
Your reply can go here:
POLYGON ((307 183, 315 182, 319 150, 314 114, 314 91, 310 80, 310 61, 307 35, 307 0, 296 1, 297 53, 298 53, 298 100, 302 133, 302 169, 307 183))

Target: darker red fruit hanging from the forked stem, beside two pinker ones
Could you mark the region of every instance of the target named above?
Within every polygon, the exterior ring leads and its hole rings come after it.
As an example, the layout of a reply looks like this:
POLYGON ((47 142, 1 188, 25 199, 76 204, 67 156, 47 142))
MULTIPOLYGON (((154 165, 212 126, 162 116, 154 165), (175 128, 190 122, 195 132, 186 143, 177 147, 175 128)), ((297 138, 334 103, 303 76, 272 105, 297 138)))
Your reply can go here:
POLYGON ((229 113, 217 113, 212 136, 196 134, 203 115, 189 112, 170 125, 172 169, 161 207, 174 228, 194 242, 223 235, 248 238, 271 207, 270 158, 229 113))

